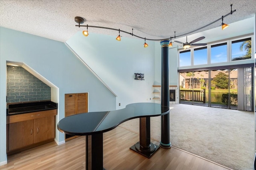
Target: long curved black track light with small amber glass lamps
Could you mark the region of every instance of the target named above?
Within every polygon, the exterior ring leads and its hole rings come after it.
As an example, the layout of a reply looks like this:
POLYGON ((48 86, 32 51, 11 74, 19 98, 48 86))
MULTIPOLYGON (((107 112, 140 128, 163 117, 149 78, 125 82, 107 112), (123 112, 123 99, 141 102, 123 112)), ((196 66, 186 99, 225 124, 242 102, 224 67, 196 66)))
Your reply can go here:
MULTIPOLYGON (((215 20, 215 21, 213 21, 212 23, 209 23, 209 24, 207 24, 207 25, 204 25, 203 27, 200 27, 200 28, 195 29, 195 30, 193 30, 193 31, 190 31, 190 32, 188 32, 188 33, 184 33, 184 34, 182 34, 182 35, 177 35, 177 36, 174 35, 174 37, 170 37, 170 43, 169 43, 168 46, 169 46, 169 47, 172 47, 172 38, 175 38, 175 39, 176 39, 176 37, 183 37, 184 35, 191 34, 191 33, 193 33, 193 32, 196 32, 196 31, 200 30, 200 29, 203 29, 203 28, 205 28, 205 27, 208 27, 209 25, 212 25, 213 23, 215 23, 215 22, 217 22, 217 21, 219 21, 219 20, 222 20, 222 24, 221 24, 221 25, 222 25, 222 30, 225 29, 225 28, 228 27, 229 25, 223 23, 223 18, 225 18, 226 16, 229 16, 229 15, 233 14, 233 12, 236 11, 236 10, 233 10, 233 11, 232 11, 232 4, 231 4, 230 6, 231 6, 231 12, 230 12, 229 14, 226 14, 225 16, 222 16, 222 18, 219 18, 218 20, 215 20)), ((146 37, 143 38, 143 37, 140 37, 140 36, 138 36, 138 35, 134 35, 134 34, 133 34, 133 29, 132 29, 132 33, 129 33, 129 32, 126 32, 126 31, 123 31, 123 30, 120 30, 120 29, 114 29, 114 28, 110 28, 110 27, 100 27, 100 26, 94 26, 94 25, 80 25, 80 24, 84 23, 84 18, 82 18, 82 17, 75 17, 75 21, 76 21, 76 23, 78 23, 78 25, 76 25, 76 27, 87 27, 87 30, 86 30, 86 31, 83 31, 83 35, 86 36, 86 37, 89 35, 89 34, 88 34, 88 27, 94 27, 94 28, 112 29, 112 30, 119 31, 119 35, 116 37, 116 40, 117 40, 117 41, 121 41, 120 31, 123 32, 123 33, 130 34, 130 35, 132 35, 132 36, 135 36, 135 37, 144 39, 144 40, 145 40, 144 47, 148 47, 148 44, 146 43, 146 40, 162 41, 163 39, 169 39, 169 38, 147 39, 146 37)), ((174 34, 175 34, 175 32, 174 32, 174 34)), ((186 45, 184 46, 184 48, 185 48, 185 47, 186 47, 186 48, 189 48, 189 47, 186 46, 186 45)))

